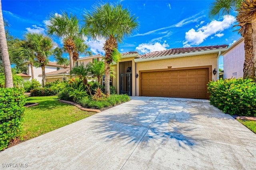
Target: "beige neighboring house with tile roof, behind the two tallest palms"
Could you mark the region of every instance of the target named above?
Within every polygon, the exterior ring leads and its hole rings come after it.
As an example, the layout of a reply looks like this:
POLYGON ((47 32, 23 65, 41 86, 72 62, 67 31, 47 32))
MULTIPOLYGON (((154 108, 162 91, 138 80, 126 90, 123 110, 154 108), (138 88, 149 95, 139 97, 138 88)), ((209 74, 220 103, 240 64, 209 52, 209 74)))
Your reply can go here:
MULTIPOLYGON (((88 63, 90 63, 90 62, 93 63, 96 60, 101 61, 102 57, 103 56, 100 54, 90 55, 87 57, 81 57, 81 58, 79 58, 78 61, 76 61, 76 66, 80 65, 80 64, 87 65, 88 63)), ((42 77, 42 71, 38 76, 42 77)), ((46 82, 49 82, 49 83, 54 82, 56 80, 64 81, 64 80, 68 80, 68 79, 70 79, 70 68, 46 72, 46 82)))

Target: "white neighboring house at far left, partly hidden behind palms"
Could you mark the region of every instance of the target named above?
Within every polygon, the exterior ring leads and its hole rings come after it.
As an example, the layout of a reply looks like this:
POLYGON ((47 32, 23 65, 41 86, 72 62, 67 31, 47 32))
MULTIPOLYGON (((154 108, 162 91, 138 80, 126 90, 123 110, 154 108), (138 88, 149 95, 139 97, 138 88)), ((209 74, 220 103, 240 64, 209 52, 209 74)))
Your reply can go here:
MULTIPOLYGON (((37 68, 35 66, 33 66, 33 68, 34 68, 34 79, 37 79, 40 83, 42 83, 42 76, 39 76, 42 74, 42 68, 41 67, 37 68)), ((64 69, 64 65, 58 65, 56 62, 48 62, 48 64, 45 67, 45 73, 58 71, 62 69, 64 69)), ((31 75, 31 65, 28 66, 28 75, 31 75)))

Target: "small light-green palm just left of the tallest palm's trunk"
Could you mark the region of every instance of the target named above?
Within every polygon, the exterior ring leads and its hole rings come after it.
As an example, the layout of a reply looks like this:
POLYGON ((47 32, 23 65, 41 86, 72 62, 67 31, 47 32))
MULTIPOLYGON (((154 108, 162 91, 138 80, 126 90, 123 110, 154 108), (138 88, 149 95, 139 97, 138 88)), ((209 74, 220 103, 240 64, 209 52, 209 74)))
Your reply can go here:
POLYGON ((99 88, 101 77, 105 74, 104 62, 103 61, 94 61, 94 63, 90 62, 87 65, 87 68, 92 74, 92 76, 97 77, 98 88, 99 88))

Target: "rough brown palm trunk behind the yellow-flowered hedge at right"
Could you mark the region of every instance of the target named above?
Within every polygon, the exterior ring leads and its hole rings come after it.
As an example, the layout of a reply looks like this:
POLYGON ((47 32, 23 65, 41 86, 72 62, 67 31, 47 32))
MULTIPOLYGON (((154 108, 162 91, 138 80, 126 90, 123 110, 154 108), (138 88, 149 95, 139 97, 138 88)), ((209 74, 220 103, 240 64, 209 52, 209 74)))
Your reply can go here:
POLYGON ((244 33, 244 78, 254 77, 254 62, 253 62, 253 36, 252 36, 252 24, 246 24, 246 32, 244 33))

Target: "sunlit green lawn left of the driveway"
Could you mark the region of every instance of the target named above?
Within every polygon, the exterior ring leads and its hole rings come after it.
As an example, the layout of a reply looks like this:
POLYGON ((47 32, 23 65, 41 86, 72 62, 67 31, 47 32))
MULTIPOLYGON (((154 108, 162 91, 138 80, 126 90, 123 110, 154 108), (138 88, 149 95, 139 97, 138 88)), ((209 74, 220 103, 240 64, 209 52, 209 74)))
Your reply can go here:
POLYGON ((28 103, 39 103, 28 107, 24 113, 21 138, 28 140, 57 128, 69 125, 91 115, 93 112, 82 111, 73 105, 58 101, 57 96, 28 97, 28 103))

